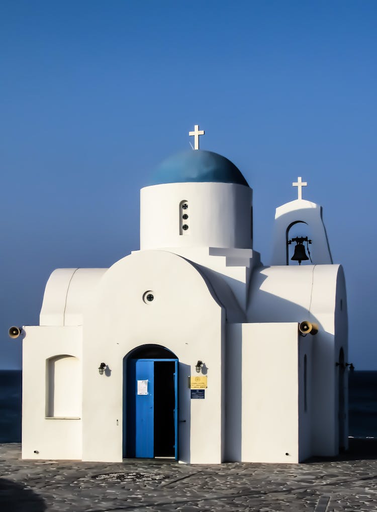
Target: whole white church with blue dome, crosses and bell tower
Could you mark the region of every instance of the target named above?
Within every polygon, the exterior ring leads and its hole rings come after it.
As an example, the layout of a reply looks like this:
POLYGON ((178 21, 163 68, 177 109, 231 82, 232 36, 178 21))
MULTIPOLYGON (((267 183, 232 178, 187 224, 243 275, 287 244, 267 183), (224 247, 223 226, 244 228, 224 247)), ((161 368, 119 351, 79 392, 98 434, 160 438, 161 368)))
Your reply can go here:
POLYGON ((253 191, 202 133, 141 189, 140 250, 52 272, 21 331, 23 458, 297 463, 347 447, 346 288, 322 207, 299 178, 262 265, 253 191))

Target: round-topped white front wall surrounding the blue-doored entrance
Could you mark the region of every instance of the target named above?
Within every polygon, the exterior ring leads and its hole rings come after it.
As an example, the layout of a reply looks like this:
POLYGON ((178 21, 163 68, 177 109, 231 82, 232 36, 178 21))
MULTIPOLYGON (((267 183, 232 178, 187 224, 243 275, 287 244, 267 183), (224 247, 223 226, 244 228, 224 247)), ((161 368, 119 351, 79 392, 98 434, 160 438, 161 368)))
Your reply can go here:
POLYGON ((200 273, 169 252, 136 252, 103 275, 95 297, 84 314, 83 460, 122 460, 123 357, 156 344, 180 361, 180 460, 221 462, 225 311, 200 273), (147 290, 155 298, 146 304, 147 290), (196 375, 198 359, 208 369, 208 388, 204 400, 191 400, 187 376, 196 375), (99 375, 100 362, 109 376, 99 375))

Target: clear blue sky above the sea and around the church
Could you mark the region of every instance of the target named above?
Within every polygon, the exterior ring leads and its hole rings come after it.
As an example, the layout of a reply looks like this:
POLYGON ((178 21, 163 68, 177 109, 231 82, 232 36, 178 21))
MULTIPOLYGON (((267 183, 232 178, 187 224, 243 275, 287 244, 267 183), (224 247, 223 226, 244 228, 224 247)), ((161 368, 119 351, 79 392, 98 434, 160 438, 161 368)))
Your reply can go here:
POLYGON ((139 248, 139 189, 201 148, 254 189, 269 263, 275 208, 324 208, 346 272, 350 360, 377 369, 375 1, 18 1, 0 4, 0 368, 11 325, 37 325, 58 267, 139 248))

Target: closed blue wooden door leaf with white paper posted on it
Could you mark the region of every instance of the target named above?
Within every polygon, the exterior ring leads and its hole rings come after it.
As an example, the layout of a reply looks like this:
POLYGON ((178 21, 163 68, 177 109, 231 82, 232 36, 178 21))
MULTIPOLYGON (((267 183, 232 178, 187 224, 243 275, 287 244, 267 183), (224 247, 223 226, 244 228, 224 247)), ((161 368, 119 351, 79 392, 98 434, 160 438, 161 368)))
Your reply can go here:
POLYGON ((137 359, 135 369, 135 456, 154 457, 154 361, 137 359))

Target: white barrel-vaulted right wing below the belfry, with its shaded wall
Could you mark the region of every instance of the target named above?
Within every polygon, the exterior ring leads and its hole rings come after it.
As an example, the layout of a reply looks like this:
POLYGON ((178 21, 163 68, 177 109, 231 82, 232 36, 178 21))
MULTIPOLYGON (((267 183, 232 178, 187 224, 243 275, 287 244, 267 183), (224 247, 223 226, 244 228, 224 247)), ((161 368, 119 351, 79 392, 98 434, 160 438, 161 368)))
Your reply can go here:
MULTIPOLYGON (((319 325, 312 349, 312 455, 338 453, 336 296, 345 300, 339 265, 276 266, 255 271, 250 285, 250 322, 302 322, 319 325)), ((340 301, 339 301, 340 302, 340 301)), ((345 306, 346 307, 346 306, 345 306)), ((343 315, 337 324, 346 323, 343 315)), ((342 328, 343 329, 343 328, 342 328)), ((341 336, 345 345, 347 340, 341 336)))

